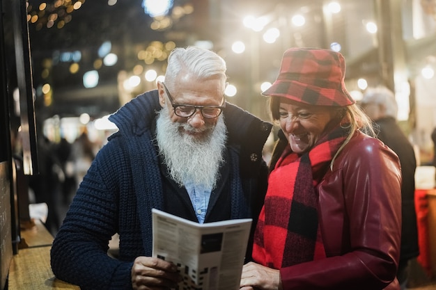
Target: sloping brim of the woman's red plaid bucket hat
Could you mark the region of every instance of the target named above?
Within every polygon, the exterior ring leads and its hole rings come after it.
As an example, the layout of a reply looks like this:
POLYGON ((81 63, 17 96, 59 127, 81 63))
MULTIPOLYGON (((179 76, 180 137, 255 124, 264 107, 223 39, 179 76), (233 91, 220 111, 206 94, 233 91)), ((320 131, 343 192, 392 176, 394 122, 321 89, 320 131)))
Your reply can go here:
POLYGON ((316 106, 350 106, 355 104, 347 90, 311 86, 299 81, 280 79, 262 92, 264 96, 286 97, 295 102, 316 106))

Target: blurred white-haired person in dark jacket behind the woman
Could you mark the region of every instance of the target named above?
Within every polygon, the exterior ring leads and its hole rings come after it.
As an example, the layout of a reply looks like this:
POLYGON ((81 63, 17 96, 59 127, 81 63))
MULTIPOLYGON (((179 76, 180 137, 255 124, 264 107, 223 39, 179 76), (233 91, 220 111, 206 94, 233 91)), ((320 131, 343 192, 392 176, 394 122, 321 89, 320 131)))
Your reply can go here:
POLYGON ((361 100, 361 106, 368 117, 375 122, 377 137, 396 152, 401 163, 403 225, 397 277, 401 289, 405 289, 410 273, 409 261, 419 255, 414 206, 416 157, 412 144, 398 126, 396 120, 398 108, 394 92, 385 87, 368 88, 361 100))

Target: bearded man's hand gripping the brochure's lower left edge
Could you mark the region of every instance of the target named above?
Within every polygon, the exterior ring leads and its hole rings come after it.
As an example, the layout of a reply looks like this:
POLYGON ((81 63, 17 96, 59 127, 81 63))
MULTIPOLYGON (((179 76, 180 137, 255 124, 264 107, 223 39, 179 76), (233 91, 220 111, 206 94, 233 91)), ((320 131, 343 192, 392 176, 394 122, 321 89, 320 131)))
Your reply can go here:
POLYGON ((132 266, 132 287, 134 290, 155 290, 176 288, 182 277, 177 266, 154 257, 137 257, 132 266))

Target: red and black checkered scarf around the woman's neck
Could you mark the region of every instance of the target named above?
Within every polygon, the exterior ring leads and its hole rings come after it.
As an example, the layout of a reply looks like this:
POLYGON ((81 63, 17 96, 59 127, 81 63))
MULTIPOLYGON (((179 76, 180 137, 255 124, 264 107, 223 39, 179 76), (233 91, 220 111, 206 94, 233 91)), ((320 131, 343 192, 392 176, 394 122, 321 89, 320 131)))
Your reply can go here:
POLYGON ((253 258, 257 263, 279 269, 325 257, 315 188, 347 134, 348 129, 336 127, 302 156, 289 145, 283 151, 270 173, 256 227, 253 258))

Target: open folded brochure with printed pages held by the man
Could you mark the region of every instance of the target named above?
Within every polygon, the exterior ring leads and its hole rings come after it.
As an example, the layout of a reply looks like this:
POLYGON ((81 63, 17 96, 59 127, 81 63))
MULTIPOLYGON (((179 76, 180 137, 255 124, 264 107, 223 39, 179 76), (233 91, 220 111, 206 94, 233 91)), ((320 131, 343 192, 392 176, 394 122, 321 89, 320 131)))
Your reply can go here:
POLYGON ((195 223, 152 209, 153 257, 183 276, 178 290, 239 289, 251 218, 195 223))

